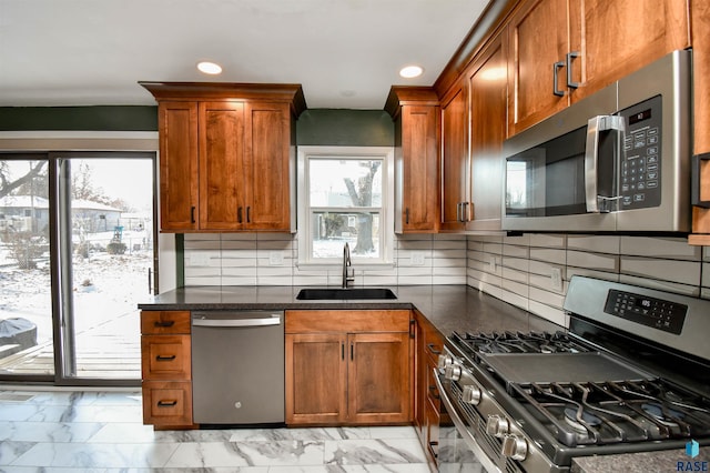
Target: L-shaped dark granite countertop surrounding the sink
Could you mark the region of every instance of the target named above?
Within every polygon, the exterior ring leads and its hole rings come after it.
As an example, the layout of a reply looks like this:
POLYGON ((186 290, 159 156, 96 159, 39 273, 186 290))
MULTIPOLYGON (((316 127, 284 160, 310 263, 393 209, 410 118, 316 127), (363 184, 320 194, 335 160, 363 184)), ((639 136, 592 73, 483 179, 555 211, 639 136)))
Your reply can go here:
POLYGON ((416 309, 444 335, 453 331, 561 330, 467 285, 392 286, 396 300, 300 301, 300 286, 181 288, 139 304, 143 310, 416 309))

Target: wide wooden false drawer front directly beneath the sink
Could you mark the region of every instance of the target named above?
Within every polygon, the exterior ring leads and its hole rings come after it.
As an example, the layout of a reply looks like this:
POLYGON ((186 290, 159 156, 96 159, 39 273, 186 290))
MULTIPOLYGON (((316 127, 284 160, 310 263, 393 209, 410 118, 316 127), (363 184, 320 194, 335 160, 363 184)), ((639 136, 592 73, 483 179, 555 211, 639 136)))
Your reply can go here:
POLYGON ((408 332, 409 310, 286 311, 286 333, 408 332))

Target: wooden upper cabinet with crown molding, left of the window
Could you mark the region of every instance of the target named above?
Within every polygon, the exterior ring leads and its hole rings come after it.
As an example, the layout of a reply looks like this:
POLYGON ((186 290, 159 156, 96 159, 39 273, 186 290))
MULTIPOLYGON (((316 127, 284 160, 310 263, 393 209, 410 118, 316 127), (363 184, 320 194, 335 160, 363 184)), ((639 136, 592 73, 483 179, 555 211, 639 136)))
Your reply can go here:
POLYGON ((159 103, 162 231, 295 230, 301 85, 141 84, 159 103))

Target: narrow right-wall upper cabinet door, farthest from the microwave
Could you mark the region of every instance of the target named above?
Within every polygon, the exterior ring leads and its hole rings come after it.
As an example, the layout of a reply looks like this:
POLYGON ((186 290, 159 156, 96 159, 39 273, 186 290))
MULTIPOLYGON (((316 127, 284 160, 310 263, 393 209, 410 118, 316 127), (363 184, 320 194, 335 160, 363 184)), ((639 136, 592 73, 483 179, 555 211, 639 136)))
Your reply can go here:
POLYGON ((458 84, 442 104, 442 225, 463 230, 468 202, 468 97, 458 84))

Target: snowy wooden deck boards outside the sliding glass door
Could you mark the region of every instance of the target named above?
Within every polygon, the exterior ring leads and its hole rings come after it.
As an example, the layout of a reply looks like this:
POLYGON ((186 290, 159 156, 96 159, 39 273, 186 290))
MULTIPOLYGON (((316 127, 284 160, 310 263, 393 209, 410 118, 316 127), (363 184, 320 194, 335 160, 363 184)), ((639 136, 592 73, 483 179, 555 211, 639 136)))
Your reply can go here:
MULTIPOLYGON (((77 334, 78 379, 141 379, 141 338, 133 332, 125 314, 77 334), (130 328, 130 330, 129 330, 130 328)), ((51 342, 39 344, 0 359, 0 375, 53 375, 54 349, 51 342)))

